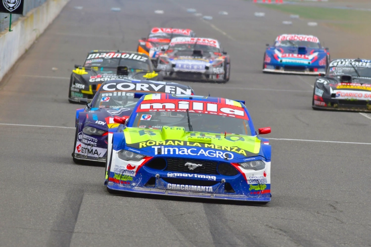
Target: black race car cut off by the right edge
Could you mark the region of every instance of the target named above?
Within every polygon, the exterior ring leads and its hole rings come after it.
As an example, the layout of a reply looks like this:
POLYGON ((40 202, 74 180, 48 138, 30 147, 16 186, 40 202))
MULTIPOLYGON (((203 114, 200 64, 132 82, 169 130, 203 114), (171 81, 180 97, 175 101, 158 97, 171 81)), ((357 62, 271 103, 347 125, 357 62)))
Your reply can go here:
POLYGON ((335 59, 314 86, 313 109, 371 112, 371 60, 335 59))

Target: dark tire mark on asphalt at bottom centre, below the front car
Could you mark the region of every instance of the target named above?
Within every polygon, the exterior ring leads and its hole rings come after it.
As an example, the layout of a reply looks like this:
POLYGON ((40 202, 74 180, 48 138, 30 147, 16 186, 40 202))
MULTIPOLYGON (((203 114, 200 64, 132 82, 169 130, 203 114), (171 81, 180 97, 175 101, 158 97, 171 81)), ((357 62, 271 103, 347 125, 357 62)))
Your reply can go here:
POLYGON ((248 233, 245 233, 243 240, 235 236, 235 231, 227 224, 221 205, 204 204, 203 207, 215 246, 261 246, 248 233))

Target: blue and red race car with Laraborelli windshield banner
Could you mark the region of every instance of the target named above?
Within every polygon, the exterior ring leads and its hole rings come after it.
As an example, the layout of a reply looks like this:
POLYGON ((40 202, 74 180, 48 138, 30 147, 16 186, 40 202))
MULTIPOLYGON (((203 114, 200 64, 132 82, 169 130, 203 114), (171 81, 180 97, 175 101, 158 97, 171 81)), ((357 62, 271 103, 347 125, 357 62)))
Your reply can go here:
POLYGON ((267 44, 263 72, 318 75, 325 73, 329 56, 317 37, 283 34, 273 46, 267 44))

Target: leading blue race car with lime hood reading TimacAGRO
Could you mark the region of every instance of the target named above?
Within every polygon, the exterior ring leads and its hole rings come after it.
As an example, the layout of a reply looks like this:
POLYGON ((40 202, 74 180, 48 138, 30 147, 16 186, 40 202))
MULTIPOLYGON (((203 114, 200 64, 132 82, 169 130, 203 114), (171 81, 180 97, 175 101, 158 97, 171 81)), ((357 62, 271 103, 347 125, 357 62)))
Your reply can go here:
POLYGON ((271 146, 264 144, 268 139, 257 136, 241 101, 144 95, 127 127, 108 134, 105 184, 110 193, 265 204, 271 200, 271 146))

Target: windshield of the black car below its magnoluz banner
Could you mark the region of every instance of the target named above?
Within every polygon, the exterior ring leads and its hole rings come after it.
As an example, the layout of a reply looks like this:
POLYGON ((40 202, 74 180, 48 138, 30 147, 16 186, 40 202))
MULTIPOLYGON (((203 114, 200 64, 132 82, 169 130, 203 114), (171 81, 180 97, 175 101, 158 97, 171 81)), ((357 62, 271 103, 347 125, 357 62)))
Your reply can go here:
POLYGON ((125 58, 95 58, 85 61, 84 67, 113 67, 126 66, 129 69, 151 71, 149 63, 137 59, 125 58))

